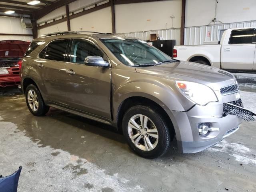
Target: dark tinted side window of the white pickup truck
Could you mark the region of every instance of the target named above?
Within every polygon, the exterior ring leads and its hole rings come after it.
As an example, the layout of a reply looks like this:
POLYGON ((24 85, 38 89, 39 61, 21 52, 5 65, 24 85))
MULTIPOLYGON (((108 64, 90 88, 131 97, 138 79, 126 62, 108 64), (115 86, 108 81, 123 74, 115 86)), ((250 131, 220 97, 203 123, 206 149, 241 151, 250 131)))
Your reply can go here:
POLYGON ((229 44, 249 44, 252 43, 254 29, 233 30, 230 35, 229 44))

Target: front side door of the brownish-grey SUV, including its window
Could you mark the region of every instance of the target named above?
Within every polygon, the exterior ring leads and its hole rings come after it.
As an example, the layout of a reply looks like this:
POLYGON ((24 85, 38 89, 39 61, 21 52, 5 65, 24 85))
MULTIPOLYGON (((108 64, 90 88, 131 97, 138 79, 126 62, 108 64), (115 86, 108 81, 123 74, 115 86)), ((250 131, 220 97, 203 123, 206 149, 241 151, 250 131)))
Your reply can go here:
POLYGON ((66 63, 66 98, 70 108, 111 119, 111 68, 86 66, 87 56, 107 56, 90 40, 74 39, 66 63))

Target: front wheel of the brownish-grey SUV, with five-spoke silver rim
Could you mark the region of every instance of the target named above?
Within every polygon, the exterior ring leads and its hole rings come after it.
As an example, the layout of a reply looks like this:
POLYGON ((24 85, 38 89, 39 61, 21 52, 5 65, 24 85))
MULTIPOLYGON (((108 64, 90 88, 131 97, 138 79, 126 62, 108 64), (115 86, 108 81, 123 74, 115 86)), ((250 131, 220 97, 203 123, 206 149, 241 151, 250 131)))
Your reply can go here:
POLYGON ((160 112, 151 107, 128 109, 122 128, 130 148, 144 158, 157 158, 170 146, 168 124, 160 112))

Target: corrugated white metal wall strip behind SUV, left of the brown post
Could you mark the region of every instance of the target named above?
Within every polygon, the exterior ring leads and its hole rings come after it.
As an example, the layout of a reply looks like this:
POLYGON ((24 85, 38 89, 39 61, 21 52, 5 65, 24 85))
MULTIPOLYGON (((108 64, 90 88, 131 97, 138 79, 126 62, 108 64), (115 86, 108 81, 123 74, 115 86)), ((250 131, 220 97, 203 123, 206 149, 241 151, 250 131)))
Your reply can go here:
POLYGON ((152 31, 140 31, 140 32, 130 32, 123 33, 122 35, 128 37, 136 37, 142 40, 149 40, 150 34, 158 34, 159 37, 164 38, 164 40, 176 40, 176 45, 180 45, 180 28, 171 28, 171 29, 160 29, 152 31))

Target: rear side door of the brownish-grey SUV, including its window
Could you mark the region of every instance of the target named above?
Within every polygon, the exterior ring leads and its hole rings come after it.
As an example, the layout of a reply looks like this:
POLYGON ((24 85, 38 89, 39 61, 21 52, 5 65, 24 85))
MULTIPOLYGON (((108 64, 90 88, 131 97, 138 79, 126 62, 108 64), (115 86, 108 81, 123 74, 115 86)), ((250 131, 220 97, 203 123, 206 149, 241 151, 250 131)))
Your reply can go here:
POLYGON ((64 75, 66 75, 65 59, 69 41, 68 39, 60 39, 50 42, 39 53, 40 59, 34 62, 43 82, 44 98, 62 105, 66 105, 64 75))

